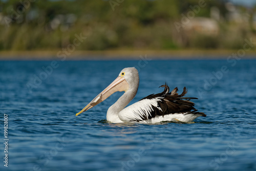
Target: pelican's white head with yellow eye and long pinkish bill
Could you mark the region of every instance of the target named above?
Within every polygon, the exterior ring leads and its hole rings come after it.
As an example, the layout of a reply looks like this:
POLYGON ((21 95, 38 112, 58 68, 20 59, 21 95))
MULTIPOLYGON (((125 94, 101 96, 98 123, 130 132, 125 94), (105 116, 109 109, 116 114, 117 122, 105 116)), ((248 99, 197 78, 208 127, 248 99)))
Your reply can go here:
POLYGON ((112 95, 117 91, 126 92, 130 89, 138 89, 138 86, 139 86, 138 70, 134 67, 124 68, 119 73, 118 77, 100 94, 98 94, 85 108, 83 108, 80 112, 78 112, 76 116, 91 109, 93 106, 104 101, 106 98, 108 98, 110 95, 112 95))

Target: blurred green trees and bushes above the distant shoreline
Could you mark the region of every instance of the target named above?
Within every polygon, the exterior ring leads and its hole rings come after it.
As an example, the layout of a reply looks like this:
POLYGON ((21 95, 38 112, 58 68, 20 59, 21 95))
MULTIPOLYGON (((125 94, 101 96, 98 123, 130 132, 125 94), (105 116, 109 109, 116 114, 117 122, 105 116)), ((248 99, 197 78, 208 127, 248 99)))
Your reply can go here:
POLYGON ((0 1, 0 53, 233 50, 256 39, 253 0, 0 1))

